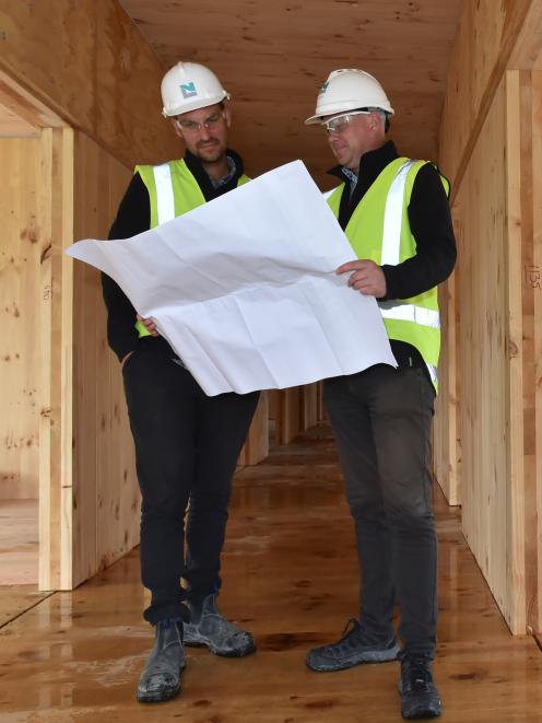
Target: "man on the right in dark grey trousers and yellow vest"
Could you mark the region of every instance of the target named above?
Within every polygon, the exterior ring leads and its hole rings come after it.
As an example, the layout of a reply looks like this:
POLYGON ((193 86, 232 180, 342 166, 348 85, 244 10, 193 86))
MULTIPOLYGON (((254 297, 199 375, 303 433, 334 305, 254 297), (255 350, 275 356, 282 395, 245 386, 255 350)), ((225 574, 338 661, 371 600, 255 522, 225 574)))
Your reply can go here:
POLYGON ((341 266, 353 291, 375 296, 398 369, 377 364, 327 380, 363 574, 360 618, 340 640, 311 650, 309 668, 341 670, 400 658, 401 712, 440 715, 432 661, 437 627, 437 543, 432 504, 431 424, 437 387, 437 284, 456 243, 448 183, 435 165, 400 158, 386 142, 393 108, 362 70, 333 71, 316 115, 339 165, 328 202, 358 260, 341 266), (397 599, 401 622, 393 631, 397 599))

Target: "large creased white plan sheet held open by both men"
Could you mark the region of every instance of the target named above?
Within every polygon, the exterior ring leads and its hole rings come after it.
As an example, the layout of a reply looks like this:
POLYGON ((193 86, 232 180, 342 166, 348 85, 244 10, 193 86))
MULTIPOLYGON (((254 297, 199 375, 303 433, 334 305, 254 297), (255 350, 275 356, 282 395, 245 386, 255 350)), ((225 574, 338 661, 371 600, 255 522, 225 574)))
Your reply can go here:
POLYGON ((301 161, 133 238, 68 254, 154 317, 208 395, 397 365, 375 299, 334 273, 355 255, 301 161))

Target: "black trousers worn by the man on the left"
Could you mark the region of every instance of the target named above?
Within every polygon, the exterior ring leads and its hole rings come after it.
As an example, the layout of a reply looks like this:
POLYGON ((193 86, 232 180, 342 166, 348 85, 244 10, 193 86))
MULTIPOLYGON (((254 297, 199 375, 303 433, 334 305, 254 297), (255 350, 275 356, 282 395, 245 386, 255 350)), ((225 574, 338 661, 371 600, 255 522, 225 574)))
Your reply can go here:
POLYGON ((122 372, 142 494, 141 579, 152 595, 144 618, 155 625, 184 617, 185 597, 221 586, 232 477, 259 393, 208 397, 152 345, 141 343, 122 372))

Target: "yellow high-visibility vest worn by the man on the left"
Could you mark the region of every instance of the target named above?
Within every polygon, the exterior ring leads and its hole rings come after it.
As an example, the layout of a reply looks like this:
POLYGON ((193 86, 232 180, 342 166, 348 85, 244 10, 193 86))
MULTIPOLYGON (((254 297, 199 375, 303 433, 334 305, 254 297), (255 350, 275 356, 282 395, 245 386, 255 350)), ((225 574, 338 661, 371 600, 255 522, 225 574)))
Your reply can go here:
MULTIPOLYGON (((205 202, 205 197, 184 159, 161 165, 137 165, 134 173, 139 173, 149 191, 151 229, 192 211, 205 202)), ((237 186, 248 180, 250 178, 243 174, 237 180, 237 186)), ((140 337, 150 336, 141 322, 136 323, 136 328, 140 337)))

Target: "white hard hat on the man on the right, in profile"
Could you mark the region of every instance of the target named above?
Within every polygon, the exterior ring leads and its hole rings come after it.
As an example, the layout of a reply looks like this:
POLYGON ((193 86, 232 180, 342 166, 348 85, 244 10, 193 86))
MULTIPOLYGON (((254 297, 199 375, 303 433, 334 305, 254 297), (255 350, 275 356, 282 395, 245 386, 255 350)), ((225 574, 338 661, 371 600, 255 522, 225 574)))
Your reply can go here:
POLYGON ((380 108, 393 115, 388 96, 376 78, 355 68, 333 70, 320 89, 316 114, 307 118, 305 124, 321 123, 323 116, 356 108, 380 108))

